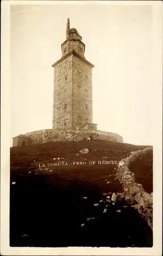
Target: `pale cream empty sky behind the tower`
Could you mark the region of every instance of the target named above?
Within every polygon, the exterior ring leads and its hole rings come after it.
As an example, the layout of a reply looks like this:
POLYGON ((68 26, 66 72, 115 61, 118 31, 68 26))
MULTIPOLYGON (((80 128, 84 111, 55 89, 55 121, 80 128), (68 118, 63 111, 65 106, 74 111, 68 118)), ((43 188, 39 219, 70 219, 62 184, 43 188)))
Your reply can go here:
POLYGON ((95 65, 93 122, 98 130, 118 133, 126 143, 152 145, 152 7, 133 5, 11 7, 11 138, 52 128, 51 65, 61 58, 68 17, 70 28, 83 37, 86 59, 95 65))

